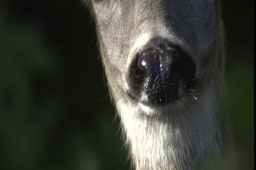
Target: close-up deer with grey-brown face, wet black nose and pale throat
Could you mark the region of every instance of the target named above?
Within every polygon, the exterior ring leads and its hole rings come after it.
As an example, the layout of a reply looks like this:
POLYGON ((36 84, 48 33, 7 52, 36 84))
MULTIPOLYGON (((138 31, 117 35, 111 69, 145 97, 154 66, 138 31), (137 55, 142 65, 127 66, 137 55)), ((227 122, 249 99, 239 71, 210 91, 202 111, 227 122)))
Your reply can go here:
POLYGON ((210 168, 231 145, 219 0, 85 3, 134 167, 210 168))

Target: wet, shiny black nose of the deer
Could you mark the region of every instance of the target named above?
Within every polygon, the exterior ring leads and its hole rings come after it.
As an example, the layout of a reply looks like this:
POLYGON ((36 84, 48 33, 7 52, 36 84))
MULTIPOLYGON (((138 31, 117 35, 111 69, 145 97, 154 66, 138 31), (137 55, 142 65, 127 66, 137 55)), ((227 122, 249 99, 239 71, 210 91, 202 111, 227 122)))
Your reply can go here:
POLYGON ((196 86, 196 66, 178 46, 158 45, 138 53, 128 74, 130 96, 150 104, 178 99, 196 86))

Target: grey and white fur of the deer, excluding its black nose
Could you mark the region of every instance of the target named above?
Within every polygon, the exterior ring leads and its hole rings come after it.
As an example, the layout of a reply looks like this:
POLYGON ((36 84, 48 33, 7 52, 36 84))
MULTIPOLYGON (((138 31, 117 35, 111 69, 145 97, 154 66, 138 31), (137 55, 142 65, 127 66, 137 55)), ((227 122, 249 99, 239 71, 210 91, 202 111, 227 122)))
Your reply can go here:
POLYGON ((86 0, 96 22, 108 87, 136 169, 208 169, 230 148, 222 113, 224 35, 218 0, 86 0), (154 37, 180 45, 198 84, 169 106, 128 95, 128 67, 154 37))

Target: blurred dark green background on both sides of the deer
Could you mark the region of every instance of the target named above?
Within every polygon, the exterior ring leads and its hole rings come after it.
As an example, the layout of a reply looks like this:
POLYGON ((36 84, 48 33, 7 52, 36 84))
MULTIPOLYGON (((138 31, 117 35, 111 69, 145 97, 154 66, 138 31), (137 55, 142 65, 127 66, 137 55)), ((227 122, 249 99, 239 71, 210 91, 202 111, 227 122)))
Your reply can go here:
MULTIPOLYGON (((222 0, 228 114, 254 169, 254 1, 222 0)), ((0 169, 129 169, 79 0, 0 1, 0 169)), ((105 83, 106 84, 106 83, 105 83)))

